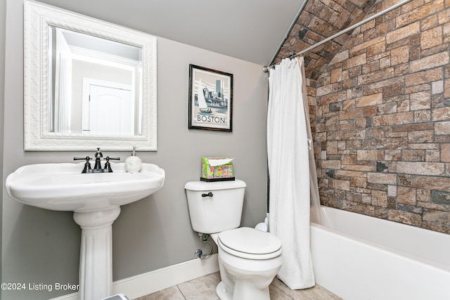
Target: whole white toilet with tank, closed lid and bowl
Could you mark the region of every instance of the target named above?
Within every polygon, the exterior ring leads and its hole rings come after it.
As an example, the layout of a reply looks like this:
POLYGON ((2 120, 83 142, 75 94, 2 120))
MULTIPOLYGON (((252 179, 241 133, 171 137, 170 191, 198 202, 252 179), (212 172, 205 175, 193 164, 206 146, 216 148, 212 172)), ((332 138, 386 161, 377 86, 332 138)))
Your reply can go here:
POLYGON ((245 182, 186 183, 193 230, 210 234, 219 249, 221 300, 269 300, 269 285, 281 267, 281 242, 261 230, 240 226, 245 182))

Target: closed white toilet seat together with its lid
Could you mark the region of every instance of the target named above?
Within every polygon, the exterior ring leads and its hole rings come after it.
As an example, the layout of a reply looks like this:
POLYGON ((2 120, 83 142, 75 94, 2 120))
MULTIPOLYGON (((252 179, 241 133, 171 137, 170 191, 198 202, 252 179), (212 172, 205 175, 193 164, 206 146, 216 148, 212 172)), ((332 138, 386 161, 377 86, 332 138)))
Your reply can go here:
POLYGON ((218 234, 219 247, 244 259, 272 259, 281 254, 281 241, 275 235, 240 227, 218 234))

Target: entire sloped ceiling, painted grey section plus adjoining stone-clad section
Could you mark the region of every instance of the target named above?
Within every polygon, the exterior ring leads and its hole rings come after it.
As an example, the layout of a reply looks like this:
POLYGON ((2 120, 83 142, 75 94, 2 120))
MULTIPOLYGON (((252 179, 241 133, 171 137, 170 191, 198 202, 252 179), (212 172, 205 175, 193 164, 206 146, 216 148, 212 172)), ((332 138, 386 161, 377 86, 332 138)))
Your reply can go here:
MULTIPOLYGON (((268 65, 274 57, 275 62, 279 61, 330 37, 354 22, 359 22, 375 2, 375 0, 39 1, 260 65, 268 65), (300 17, 297 18, 299 12, 300 17)), ((305 53, 310 78, 319 76, 321 67, 330 62, 351 33, 348 32, 305 53)))

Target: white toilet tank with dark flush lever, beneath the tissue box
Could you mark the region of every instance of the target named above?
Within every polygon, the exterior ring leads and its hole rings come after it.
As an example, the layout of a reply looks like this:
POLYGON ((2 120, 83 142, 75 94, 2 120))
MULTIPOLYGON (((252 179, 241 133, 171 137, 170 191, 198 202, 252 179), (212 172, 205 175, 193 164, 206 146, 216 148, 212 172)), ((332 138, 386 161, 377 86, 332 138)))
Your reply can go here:
POLYGON ((184 185, 193 230, 219 233, 238 228, 244 203, 244 181, 190 181, 184 185))

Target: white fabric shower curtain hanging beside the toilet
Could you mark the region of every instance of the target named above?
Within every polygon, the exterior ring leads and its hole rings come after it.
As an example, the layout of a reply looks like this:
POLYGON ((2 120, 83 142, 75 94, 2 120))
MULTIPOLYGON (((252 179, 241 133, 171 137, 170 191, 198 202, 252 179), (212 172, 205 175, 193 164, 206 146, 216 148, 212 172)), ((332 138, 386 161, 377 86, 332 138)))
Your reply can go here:
POLYGON ((278 278, 290 289, 315 285, 309 245, 309 153, 302 64, 302 58, 286 58, 269 73, 269 228, 283 245, 278 278))

